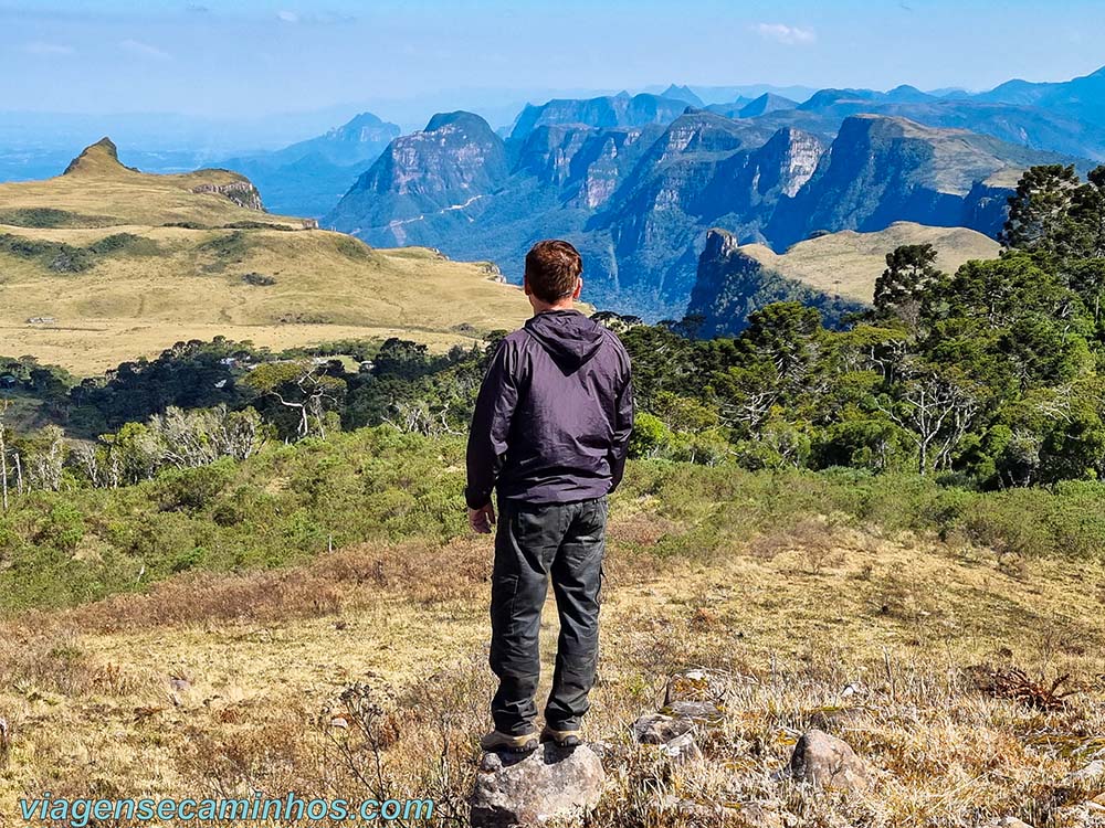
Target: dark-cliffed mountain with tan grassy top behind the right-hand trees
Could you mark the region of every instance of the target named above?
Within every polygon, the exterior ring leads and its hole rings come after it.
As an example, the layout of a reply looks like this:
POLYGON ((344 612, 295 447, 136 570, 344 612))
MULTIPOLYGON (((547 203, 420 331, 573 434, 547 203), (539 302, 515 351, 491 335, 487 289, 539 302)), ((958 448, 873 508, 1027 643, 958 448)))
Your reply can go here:
POLYGON ((871 305, 886 254, 903 244, 932 244, 936 265, 955 273, 968 259, 994 258, 992 238, 964 227, 897 222, 874 233, 845 230, 810 238, 778 254, 759 244, 739 245, 713 229, 698 257, 687 314, 702 317, 698 335, 735 336, 748 314, 771 301, 801 301, 821 311, 830 326, 871 305))

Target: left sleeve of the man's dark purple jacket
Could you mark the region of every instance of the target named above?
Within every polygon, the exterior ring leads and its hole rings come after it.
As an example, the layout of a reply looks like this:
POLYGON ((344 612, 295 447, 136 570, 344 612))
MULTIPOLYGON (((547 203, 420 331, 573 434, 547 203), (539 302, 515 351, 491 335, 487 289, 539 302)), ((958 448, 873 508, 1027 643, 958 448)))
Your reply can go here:
POLYGON ((482 509, 491 502, 492 489, 503 468, 506 438, 518 403, 516 369, 516 359, 508 343, 501 343, 480 386, 469 431, 469 482, 464 500, 470 509, 482 509))

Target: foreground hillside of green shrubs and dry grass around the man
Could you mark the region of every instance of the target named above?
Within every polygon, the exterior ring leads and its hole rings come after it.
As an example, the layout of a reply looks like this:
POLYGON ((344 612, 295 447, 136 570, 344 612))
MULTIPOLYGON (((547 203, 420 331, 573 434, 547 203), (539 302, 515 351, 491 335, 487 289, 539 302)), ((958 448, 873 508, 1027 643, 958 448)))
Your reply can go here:
MULTIPOLYGON (((464 824, 492 689, 491 542, 463 531, 461 458, 457 439, 366 429, 22 506, 0 537, 70 544, 43 588, 83 569, 147 594, 0 616, 0 813, 42 790, 387 790, 464 824)), ((667 794, 738 826, 1076 825, 1072 804, 1102 790, 1063 777, 1105 746, 1099 489, 631 464, 587 720, 609 745, 594 825, 713 824, 657 811, 667 794), (975 682, 981 664, 1067 673, 1078 692, 1038 710, 975 682), (722 678, 725 721, 680 764, 628 725, 690 666, 722 678), (871 764, 870 793, 772 778, 813 725, 871 764), (757 805, 780 821, 754 821, 757 805)))

